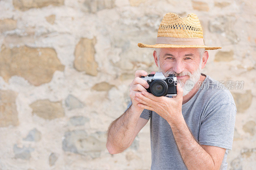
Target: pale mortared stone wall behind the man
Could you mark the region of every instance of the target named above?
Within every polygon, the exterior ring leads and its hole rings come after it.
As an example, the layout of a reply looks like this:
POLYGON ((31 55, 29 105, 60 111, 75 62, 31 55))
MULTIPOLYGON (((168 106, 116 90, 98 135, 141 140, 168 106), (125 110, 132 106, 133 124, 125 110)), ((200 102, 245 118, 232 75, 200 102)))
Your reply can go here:
POLYGON ((236 106, 228 169, 256 166, 256 3, 253 0, 0 0, 0 169, 149 169, 149 122, 108 153, 106 131, 130 101, 138 69, 157 71, 165 13, 195 13, 209 50, 202 73, 236 106))

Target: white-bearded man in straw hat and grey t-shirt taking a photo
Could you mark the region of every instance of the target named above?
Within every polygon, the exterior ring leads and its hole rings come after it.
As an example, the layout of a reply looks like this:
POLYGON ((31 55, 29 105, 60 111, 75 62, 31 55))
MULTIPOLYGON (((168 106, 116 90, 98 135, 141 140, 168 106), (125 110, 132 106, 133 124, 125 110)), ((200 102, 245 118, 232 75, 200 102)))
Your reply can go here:
POLYGON ((177 96, 148 93, 148 83, 140 78, 148 73, 137 70, 130 85, 131 102, 108 128, 108 151, 123 152, 151 118, 151 169, 227 169, 236 105, 227 89, 201 74, 208 59, 204 49, 221 47, 204 45, 199 19, 193 13, 185 18, 167 13, 156 44, 138 46, 156 48, 153 56, 159 72, 177 76, 177 96))

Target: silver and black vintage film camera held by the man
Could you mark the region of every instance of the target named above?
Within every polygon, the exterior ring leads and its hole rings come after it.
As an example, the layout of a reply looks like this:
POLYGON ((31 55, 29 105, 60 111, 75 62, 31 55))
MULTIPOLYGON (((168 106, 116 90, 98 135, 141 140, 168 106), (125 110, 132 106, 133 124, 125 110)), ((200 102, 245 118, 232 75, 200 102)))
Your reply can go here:
POLYGON ((156 74, 148 74, 147 76, 140 76, 140 78, 148 82, 148 93, 158 97, 177 95, 177 77, 174 74, 165 77, 162 72, 156 72, 156 74))

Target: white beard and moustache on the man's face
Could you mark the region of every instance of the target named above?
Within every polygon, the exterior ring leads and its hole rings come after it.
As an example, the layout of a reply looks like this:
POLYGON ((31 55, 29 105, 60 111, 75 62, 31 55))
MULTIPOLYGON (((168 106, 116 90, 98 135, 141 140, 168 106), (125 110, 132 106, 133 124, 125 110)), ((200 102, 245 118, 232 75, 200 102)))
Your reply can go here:
POLYGON ((196 85, 196 82, 199 81, 199 79, 200 79, 201 70, 202 70, 201 69, 201 65, 202 65, 202 62, 199 64, 198 68, 196 69, 196 71, 193 74, 190 73, 189 71, 182 71, 179 74, 177 74, 174 71, 164 72, 161 69, 159 64, 158 64, 158 69, 159 69, 158 71, 159 72, 163 72, 165 77, 168 77, 169 74, 174 74, 175 76, 185 76, 185 75, 188 75, 189 79, 186 82, 184 82, 183 79, 177 79, 177 83, 180 83, 180 86, 183 89, 183 96, 186 96, 194 88, 194 86, 196 85))

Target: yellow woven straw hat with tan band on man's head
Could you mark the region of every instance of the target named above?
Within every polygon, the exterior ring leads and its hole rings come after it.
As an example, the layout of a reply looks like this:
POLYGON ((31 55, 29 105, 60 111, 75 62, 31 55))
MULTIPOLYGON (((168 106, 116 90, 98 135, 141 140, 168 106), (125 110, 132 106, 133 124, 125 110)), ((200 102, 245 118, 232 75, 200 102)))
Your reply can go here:
POLYGON ((221 48, 204 45, 203 30, 196 14, 190 13, 182 18, 172 12, 165 14, 160 23, 156 44, 138 43, 138 46, 141 48, 205 48, 205 50, 221 48))

